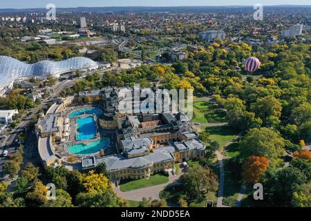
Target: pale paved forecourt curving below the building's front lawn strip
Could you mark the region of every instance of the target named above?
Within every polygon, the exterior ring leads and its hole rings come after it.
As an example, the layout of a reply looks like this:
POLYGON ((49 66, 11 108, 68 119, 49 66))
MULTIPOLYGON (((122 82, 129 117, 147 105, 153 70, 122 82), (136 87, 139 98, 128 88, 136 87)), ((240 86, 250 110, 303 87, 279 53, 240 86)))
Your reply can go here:
POLYGON ((178 179, 180 178, 182 174, 174 175, 169 177, 169 182, 165 184, 159 184, 156 186, 149 186, 146 188, 141 189, 135 189, 133 191, 126 191, 122 192, 120 191, 119 187, 115 187, 113 190, 117 195, 125 200, 135 200, 135 201, 142 201, 142 198, 149 198, 151 197, 153 200, 159 200, 160 199, 160 191, 165 189, 169 185, 174 185, 178 183, 178 179))

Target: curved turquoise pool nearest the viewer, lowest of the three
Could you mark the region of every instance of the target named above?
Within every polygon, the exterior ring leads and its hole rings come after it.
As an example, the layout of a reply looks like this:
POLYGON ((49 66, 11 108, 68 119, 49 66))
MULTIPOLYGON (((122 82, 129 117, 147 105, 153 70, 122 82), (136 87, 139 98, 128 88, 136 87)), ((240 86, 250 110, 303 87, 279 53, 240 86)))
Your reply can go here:
POLYGON ((101 149, 105 149, 110 145, 109 138, 104 138, 100 141, 91 142, 91 144, 85 145, 85 144, 76 144, 73 146, 70 146, 68 150, 70 153, 75 154, 91 154, 91 153, 97 153, 101 149))

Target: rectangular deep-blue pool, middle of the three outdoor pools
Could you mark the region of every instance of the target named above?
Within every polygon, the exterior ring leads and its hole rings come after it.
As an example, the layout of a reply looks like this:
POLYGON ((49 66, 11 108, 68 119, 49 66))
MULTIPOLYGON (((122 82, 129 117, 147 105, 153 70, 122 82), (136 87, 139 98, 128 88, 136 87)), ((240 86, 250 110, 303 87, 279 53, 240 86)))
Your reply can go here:
POLYGON ((94 117, 77 119, 77 140, 91 140, 96 136, 96 122, 94 117))

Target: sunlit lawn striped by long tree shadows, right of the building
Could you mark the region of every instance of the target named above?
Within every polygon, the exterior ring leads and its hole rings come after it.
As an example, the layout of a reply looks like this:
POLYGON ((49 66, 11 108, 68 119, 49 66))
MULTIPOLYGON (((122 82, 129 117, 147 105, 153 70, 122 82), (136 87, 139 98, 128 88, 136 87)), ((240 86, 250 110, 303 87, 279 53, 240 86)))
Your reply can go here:
POLYGON ((194 118, 192 122, 206 124, 208 122, 225 122, 225 111, 211 102, 194 102, 194 118))

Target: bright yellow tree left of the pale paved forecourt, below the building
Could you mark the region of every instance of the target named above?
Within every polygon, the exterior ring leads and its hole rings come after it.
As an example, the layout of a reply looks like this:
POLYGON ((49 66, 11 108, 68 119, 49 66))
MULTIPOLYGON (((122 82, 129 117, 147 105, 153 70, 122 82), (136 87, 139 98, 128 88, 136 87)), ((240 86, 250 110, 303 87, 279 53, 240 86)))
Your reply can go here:
POLYGON ((94 171, 89 171, 87 175, 84 176, 82 185, 88 193, 102 193, 106 189, 112 189, 109 179, 102 173, 97 174, 94 171))

